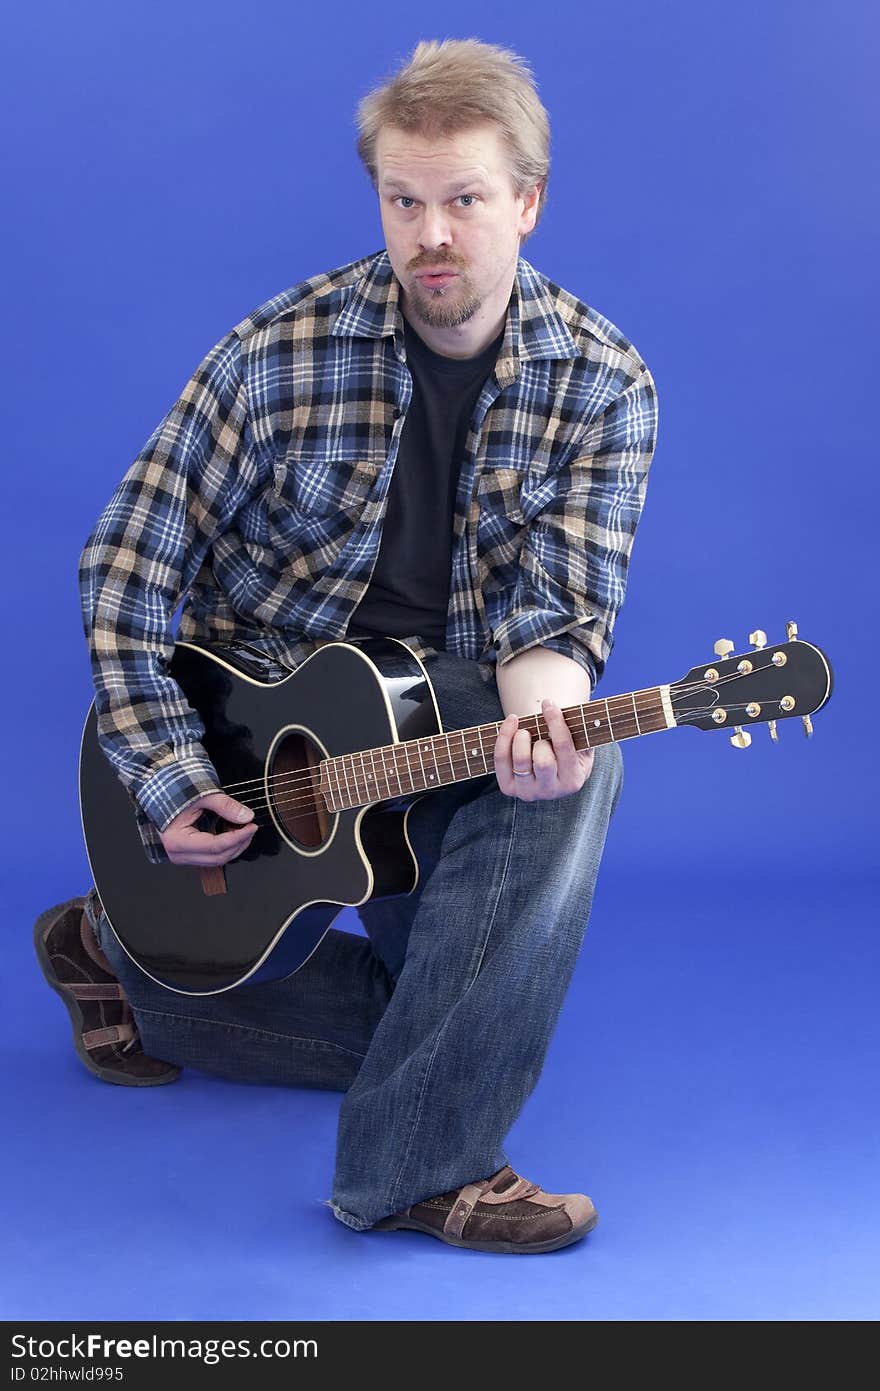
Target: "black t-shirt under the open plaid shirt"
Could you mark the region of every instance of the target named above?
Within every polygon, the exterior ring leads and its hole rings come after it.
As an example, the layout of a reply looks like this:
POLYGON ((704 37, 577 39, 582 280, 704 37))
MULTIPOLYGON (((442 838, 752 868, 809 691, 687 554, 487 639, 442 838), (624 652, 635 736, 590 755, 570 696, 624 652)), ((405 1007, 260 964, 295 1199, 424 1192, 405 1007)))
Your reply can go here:
POLYGON ((459 469, 474 406, 503 330, 477 357, 442 357, 405 320, 413 377, 375 569, 348 632, 418 636, 446 647, 452 527, 459 469))

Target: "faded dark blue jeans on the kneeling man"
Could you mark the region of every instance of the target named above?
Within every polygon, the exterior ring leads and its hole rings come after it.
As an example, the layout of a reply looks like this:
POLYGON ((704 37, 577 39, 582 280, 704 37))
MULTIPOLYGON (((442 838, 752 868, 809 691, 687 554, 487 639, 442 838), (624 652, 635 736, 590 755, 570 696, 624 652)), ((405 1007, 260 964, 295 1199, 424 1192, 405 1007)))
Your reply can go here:
MULTIPOLYGON (((445 729, 499 721, 495 682, 439 652, 445 729)), ((331 1200, 349 1227, 485 1178, 532 1091, 589 917, 623 783, 616 744, 578 793, 506 797, 494 775, 409 817, 414 893, 363 904, 286 981, 217 996, 154 985, 89 899, 97 938, 153 1057, 238 1081, 345 1091, 331 1200), (96 921, 97 919, 97 921, 96 921)))

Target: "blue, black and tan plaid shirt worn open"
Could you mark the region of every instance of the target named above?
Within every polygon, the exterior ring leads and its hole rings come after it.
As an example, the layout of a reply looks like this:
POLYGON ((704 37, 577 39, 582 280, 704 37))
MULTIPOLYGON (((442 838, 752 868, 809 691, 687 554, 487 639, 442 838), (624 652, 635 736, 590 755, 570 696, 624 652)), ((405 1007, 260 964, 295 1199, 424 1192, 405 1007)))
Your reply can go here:
MULTIPOLYGON (((199 364, 86 541, 79 580, 101 748, 147 855, 217 789, 168 675, 178 636, 295 668, 345 638, 378 555, 413 383, 385 252, 316 275, 199 364)), ((477 402, 453 529, 446 648, 563 652, 595 684, 612 650, 656 441, 651 373, 613 324, 520 257, 477 402)), ((418 634, 405 638, 420 657, 418 634)))

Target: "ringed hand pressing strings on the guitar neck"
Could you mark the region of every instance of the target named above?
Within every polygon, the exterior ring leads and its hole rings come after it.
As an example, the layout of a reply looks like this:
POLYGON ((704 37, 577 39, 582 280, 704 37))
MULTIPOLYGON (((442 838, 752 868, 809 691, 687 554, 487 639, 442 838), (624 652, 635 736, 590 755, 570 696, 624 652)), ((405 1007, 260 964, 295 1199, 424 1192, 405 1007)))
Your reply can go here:
POLYGON ((495 776, 507 797, 520 801, 553 801, 580 791, 592 772, 592 748, 577 750, 571 730, 553 701, 541 702, 549 740, 532 744, 519 715, 507 715, 495 741, 495 776))

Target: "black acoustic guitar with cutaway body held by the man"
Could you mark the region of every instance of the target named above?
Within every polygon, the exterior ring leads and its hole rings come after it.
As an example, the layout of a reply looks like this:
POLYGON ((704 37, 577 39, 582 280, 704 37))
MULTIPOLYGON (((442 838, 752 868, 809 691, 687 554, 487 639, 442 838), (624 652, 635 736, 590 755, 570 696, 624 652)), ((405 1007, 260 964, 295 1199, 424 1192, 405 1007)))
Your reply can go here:
MULTIPOLYGON (((733 729, 804 719, 831 694, 827 657, 797 637, 716 659, 669 686, 563 711, 585 748, 683 725, 733 729)), ((443 730, 424 665, 396 638, 320 647, 296 670, 243 643, 178 643, 174 680, 204 723, 224 791, 254 808, 247 850, 222 868, 152 864, 131 796, 97 741, 92 705, 79 797, 95 885, 113 931, 156 982, 185 995, 292 975, 346 906, 412 893, 418 864, 406 822, 435 787, 494 776, 498 723, 443 730)), ((548 737, 541 715, 520 719, 548 737)), ((210 818, 210 814, 207 815, 210 818)), ((203 829, 203 823, 199 823, 203 829)), ((207 828, 204 828, 207 829, 207 828)))

